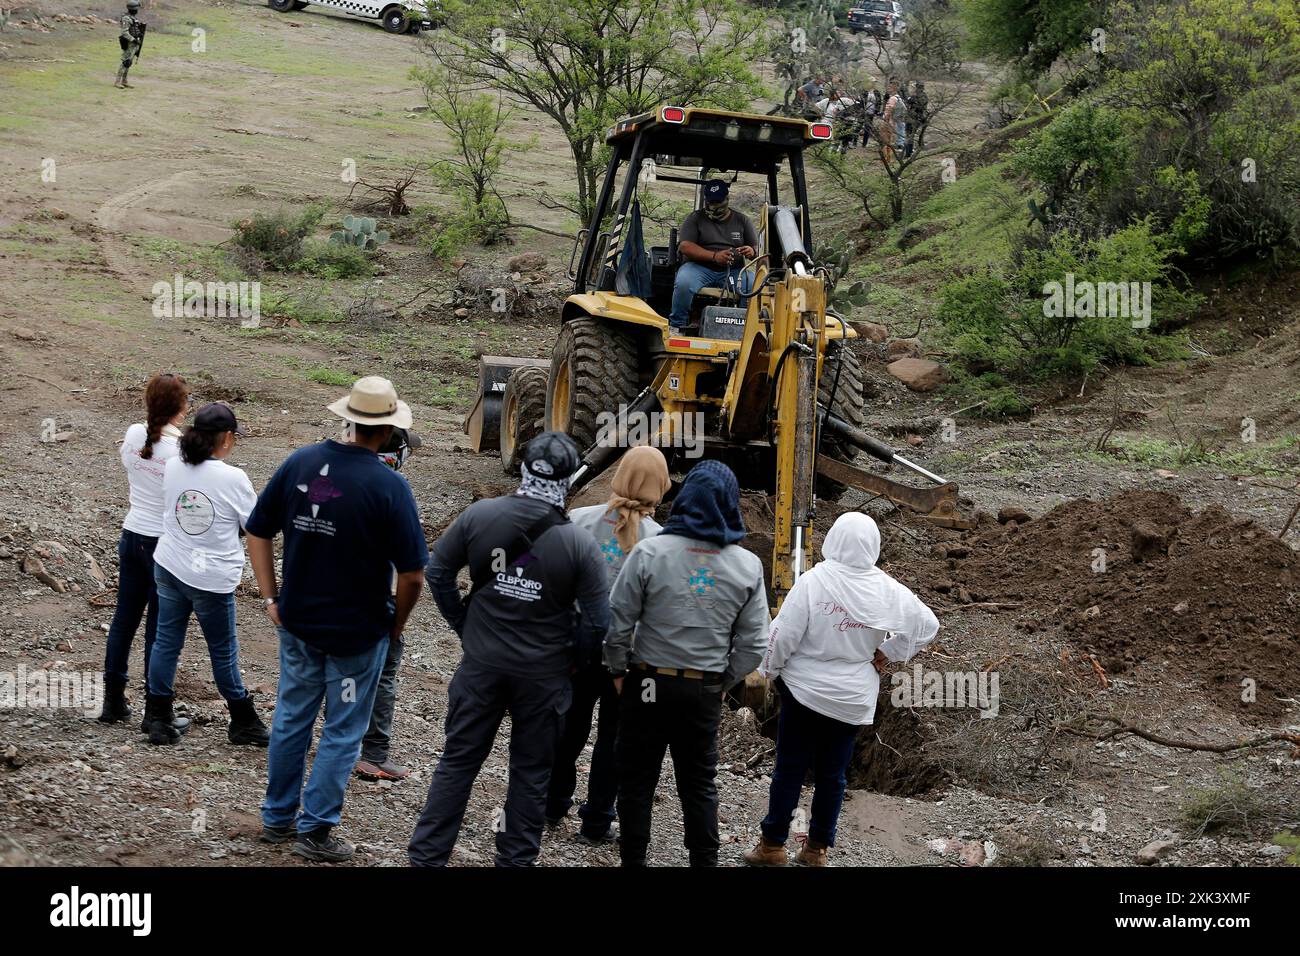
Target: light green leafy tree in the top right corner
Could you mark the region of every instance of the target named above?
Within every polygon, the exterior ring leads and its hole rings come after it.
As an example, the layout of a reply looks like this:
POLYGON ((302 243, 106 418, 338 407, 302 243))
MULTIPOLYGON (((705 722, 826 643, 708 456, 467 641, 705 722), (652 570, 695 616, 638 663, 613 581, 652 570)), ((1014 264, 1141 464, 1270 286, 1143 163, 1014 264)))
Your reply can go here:
POLYGON ((1300 248, 1294 0, 1124 0, 1110 40, 1100 99, 1135 143, 1114 206, 1167 220, 1208 198, 1205 228, 1184 233, 1193 254, 1300 248))

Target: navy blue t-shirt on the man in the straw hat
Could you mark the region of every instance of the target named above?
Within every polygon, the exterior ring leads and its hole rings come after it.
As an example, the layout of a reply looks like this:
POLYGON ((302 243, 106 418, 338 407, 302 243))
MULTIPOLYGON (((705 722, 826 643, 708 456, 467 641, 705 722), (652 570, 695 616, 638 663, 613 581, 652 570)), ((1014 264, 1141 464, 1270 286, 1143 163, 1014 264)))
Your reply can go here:
POLYGON ((429 561, 411 486, 369 449, 322 441, 280 466, 248 533, 285 535, 280 620, 329 654, 360 654, 393 630, 393 568, 429 561))

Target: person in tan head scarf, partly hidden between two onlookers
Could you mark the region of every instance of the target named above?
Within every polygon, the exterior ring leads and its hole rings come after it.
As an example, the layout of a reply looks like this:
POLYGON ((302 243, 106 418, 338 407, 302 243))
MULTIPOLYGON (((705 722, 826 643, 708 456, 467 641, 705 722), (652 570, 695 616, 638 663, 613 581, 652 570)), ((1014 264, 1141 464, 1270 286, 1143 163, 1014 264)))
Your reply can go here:
MULTIPOLYGON (((578 507, 569 511, 569 519, 585 528, 601 545, 604 570, 614 587, 628 553, 637 542, 659 533, 659 524, 651 518, 671 485, 668 462, 663 453, 649 445, 628 449, 614 475, 614 494, 603 505, 578 507)), ((577 758, 592 735, 592 714, 597 701, 601 717, 595 727, 595 747, 592 750, 592 773, 588 777, 586 803, 577 816, 582 819, 577 839, 586 844, 608 843, 614 839, 615 801, 619 782, 614 767, 614 741, 619 731, 619 696, 614 689, 610 671, 601 663, 601 646, 594 641, 578 640, 577 667, 573 671, 573 702, 564 718, 564 732, 555 748, 555 766, 546 797, 546 818, 559 822, 573 805, 577 788, 577 758)))

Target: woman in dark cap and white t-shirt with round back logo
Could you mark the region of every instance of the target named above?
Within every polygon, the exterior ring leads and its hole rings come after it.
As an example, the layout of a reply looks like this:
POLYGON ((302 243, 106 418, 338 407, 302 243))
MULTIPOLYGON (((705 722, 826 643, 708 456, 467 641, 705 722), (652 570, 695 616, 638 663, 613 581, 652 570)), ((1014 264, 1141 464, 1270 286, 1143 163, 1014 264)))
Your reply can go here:
POLYGON ((244 434, 230 406, 203 406, 181 436, 181 455, 162 475, 162 538, 153 551, 159 626, 150 658, 144 719, 151 744, 174 744, 176 666, 190 615, 208 643, 212 676, 230 708, 231 744, 266 747, 269 735, 239 678, 235 588, 243 578, 239 540, 257 496, 243 470, 226 464, 244 434))

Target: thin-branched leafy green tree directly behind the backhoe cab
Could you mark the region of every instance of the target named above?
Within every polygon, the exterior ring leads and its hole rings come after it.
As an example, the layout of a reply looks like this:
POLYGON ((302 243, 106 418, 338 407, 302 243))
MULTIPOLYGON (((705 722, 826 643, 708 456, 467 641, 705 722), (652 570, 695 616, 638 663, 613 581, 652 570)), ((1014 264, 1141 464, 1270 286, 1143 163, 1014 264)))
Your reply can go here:
POLYGON ((425 35, 462 82, 549 117, 568 140, 584 221, 595 204, 614 122, 658 103, 745 108, 762 92, 763 14, 740 0, 445 0, 425 35))

